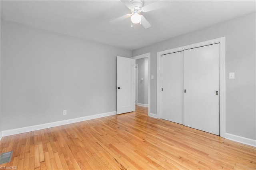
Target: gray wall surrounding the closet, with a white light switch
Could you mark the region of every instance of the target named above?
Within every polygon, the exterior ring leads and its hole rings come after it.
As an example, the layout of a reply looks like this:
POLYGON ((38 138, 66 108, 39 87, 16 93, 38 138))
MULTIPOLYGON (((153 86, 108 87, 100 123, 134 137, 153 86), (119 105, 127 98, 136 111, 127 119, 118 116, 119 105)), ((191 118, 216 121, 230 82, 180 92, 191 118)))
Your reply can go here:
MULTIPOLYGON (((157 114, 157 52, 226 37, 226 132, 256 139, 255 110, 255 12, 169 40, 132 51, 132 56, 150 52, 151 113, 157 114), (235 72, 236 79, 228 79, 235 72)), ((172 30, 170 30, 171 32, 172 30)))

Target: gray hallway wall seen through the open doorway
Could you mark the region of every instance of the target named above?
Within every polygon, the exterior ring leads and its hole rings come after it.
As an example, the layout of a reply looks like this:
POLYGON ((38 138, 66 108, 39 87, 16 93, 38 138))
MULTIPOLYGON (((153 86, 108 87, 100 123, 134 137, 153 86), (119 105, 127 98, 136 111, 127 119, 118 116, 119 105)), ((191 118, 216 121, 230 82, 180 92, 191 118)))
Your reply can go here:
POLYGON ((136 59, 138 64, 138 101, 148 104, 148 57, 136 59), (143 80, 141 80, 143 78, 143 80))

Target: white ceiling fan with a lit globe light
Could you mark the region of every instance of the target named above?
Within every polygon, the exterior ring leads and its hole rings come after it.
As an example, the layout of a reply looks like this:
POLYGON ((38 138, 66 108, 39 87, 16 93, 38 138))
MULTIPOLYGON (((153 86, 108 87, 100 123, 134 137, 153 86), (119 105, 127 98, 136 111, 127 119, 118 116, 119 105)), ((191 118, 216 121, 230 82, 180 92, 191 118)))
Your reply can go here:
POLYGON ((154 2, 147 6, 143 6, 144 0, 120 0, 120 1, 124 5, 126 5, 131 10, 132 13, 116 18, 110 22, 114 23, 114 22, 119 22, 121 20, 124 20, 126 18, 131 18, 132 24, 140 23, 142 26, 144 26, 144 28, 150 28, 151 25, 149 24, 148 20, 146 20, 146 18, 141 14, 142 12, 143 13, 149 12, 152 10, 163 8, 170 4, 170 0, 160 0, 158 2, 154 2))

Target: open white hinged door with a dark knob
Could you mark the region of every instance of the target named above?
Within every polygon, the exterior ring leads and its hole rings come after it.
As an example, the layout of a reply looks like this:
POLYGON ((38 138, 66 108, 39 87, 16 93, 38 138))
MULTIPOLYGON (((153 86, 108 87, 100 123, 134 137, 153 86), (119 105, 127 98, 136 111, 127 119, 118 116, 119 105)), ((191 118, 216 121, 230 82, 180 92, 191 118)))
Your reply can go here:
POLYGON ((117 57, 116 112, 135 111, 135 59, 117 57))

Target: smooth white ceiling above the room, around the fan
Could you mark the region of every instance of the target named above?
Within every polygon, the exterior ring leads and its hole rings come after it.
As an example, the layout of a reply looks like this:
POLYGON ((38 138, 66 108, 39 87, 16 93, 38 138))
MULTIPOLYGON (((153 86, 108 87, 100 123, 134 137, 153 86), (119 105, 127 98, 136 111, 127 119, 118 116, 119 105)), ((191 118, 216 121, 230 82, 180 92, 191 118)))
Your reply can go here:
MULTIPOLYGON (((144 0, 144 6, 156 1, 144 0)), ((151 27, 130 18, 110 23, 130 13, 119 0, 1 0, 1 18, 70 36, 137 49, 155 42, 206 28, 255 11, 252 1, 170 1, 170 6, 144 13, 151 27)))

